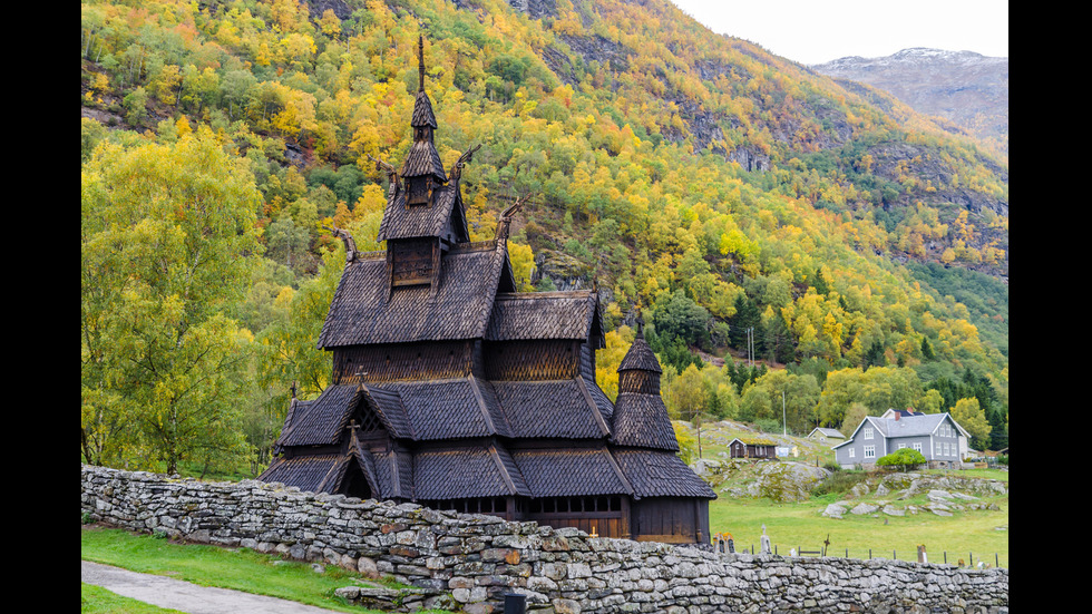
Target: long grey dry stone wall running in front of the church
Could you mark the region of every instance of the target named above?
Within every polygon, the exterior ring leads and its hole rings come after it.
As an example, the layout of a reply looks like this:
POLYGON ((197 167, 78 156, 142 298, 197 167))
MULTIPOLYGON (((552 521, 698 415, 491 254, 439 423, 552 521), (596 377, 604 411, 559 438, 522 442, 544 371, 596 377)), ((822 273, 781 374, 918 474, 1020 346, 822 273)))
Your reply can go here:
MULTIPOLYGON (((80 510, 85 522, 394 576, 418 587, 388 602, 402 608, 500 612, 505 595, 523 594, 543 614, 1008 610, 1004 568, 724 555, 260 481, 82 465, 80 510)), ((376 605, 381 592, 341 594, 376 605)))

